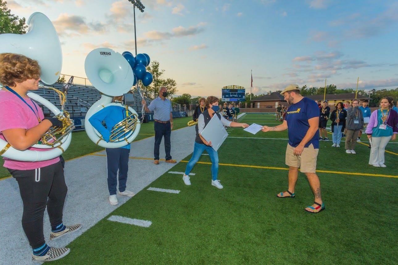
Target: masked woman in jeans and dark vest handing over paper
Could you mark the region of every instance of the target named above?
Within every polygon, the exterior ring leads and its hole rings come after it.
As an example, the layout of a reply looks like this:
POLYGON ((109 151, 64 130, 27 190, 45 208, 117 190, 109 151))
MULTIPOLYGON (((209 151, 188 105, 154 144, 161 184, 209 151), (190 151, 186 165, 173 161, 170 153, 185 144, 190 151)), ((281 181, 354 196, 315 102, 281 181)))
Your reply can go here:
POLYGON ((191 185, 191 180, 189 180, 189 173, 191 172, 193 166, 195 166, 196 162, 199 161, 199 158, 202 155, 202 153, 206 150, 211 160, 211 175, 212 175, 211 185, 216 186, 219 189, 222 189, 222 185, 220 184, 220 181, 217 179, 217 174, 219 171, 219 155, 217 154, 217 151, 215 151, 213 147, 211 147, 212 146, 211 141, 207 142, 202 137, 201 133, 203 132, 203 129, 205 129, 207 124, 210 122, 211 118, 213 118, 214 114, 217 115, 217 117, 220 119, 221 123, 224 126, 246 128, 249 125, 246 123, 228 121, 220 114, 218 114, 217 110, 219 110, 219 99, 217 97, 214 96, 207 97, 206 108, 207 110, 205 110, 205 112, 199 115, 198 127, 196 129, 196 139, 195 139, 195 144, 193 146, 192 157, 189 160, 187 167, 185 168, 185 173, 182 179, 185 185, 191 185))

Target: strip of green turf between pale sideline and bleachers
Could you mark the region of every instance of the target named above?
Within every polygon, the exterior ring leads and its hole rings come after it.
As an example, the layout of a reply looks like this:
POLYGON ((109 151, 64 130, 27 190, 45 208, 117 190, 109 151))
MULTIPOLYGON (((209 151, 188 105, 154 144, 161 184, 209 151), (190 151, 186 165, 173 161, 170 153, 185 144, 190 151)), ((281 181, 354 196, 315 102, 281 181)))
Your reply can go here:
MULTIPOLYGON (((186 127, 189 120, 192 120, 192 117, 174 118, 173 130, 186 127)), ((151 137, 153 135, 155 135, 153 122, 144 123, 141 124, 140 133, 135 138, 135 141, 151 137)), ((101 150, 104 150, 104 148, 93 143, 90 138, 88 138, 85 131, 78 131, 72 133, 72 141, 62 156, 65 160, 68 160, 101 150)), ((8 172, 7 168, 3 167, 3 164, 4 160, 0 159, 0 179, 10 176, 10 172, 8 172)))

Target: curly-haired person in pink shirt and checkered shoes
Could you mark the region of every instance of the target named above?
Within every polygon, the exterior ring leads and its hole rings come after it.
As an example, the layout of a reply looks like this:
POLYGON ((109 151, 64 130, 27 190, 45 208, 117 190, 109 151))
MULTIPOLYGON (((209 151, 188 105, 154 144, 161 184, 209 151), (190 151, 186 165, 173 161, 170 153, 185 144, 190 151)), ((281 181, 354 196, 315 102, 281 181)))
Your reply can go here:
MULTIPOLYGON (((0 138, 18 150, 36 150, 44 133, 53 126, 62 126, 57 118, 44 118, 40 106, 26 93, 37 90, 40 79, 37 61, 21 54, 0 54, 0 138)), ((53 261, 66 256, 69 248, 53 248, 46 244, 43 217, 47 207, 50 217, 50 240, 76 231, 62 222, 62 211, 68 188, 59 157, 40 162, 25 162, 4 158, 4 167, 17 180, 23 202, 22 228, 33 249, 33 261, 53 261)))

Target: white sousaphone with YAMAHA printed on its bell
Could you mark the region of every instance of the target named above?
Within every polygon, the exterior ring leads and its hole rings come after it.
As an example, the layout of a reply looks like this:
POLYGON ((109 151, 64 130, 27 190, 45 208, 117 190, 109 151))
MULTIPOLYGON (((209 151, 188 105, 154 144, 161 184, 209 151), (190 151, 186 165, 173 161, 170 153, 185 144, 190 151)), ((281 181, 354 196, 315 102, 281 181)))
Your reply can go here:
POLYGON ((140 131, 137 112, 121 103, 112 103, 113 97, 121 96, 130 91, 134 83, 134 74, 130 64, 118 52, 109 48, 97 48, 86 57, 84 69, 92 85, 101 92, 101 99, 87 111, 84 128, 88 137, 97 145, 105 148, 119 148, 131 143, 140 131), (121 106, 129 111, 129 116, 111 131, 111 139, 107 143, 101 134, 89 122, 90 117, 107 106, 121 106))

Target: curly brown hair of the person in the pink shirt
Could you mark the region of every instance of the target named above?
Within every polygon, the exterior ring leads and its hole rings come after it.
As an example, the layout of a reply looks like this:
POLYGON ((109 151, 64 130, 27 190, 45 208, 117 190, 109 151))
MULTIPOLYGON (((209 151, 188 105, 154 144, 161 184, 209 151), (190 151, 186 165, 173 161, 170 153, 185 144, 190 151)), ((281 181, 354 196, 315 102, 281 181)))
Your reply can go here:
POLYGON ((0 83, 14 87, 27 79, 40 78, 40 66, 36 60, 22 54, 0 54, 0 83))

